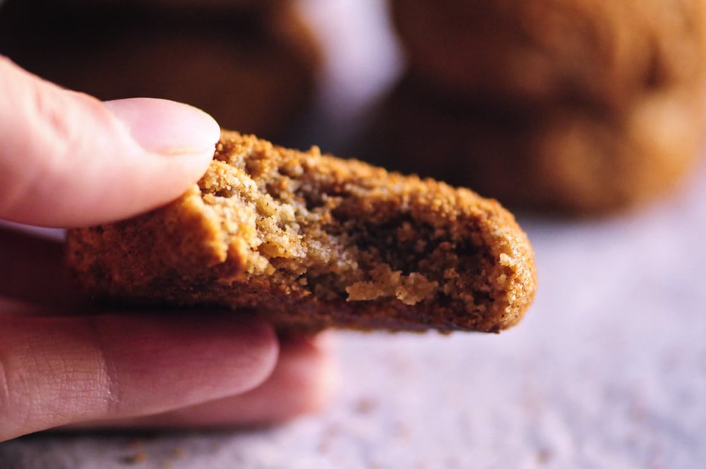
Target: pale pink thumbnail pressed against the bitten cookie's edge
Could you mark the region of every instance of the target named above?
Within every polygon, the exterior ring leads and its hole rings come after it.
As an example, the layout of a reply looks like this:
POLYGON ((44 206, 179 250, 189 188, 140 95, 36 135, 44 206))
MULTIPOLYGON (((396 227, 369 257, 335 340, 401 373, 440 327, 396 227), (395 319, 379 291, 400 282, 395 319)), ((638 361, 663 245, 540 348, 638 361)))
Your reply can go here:
POLYGON ((162 155, 213 153, 220 127, 201 109, 167 99, 104 102, 140 147, 162 155))

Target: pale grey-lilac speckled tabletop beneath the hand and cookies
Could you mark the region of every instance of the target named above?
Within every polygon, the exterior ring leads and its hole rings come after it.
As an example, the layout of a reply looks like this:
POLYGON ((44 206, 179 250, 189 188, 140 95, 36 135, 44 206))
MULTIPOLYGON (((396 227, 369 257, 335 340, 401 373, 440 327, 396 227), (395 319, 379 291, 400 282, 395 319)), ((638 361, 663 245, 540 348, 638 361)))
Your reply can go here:
POLYGON ((319 415, 241 432, 45 434, 0 444, 0 468, 702 467, 704 200, 702 171, 639 213, 524 220, 540 288, 519 327, 340 334, 340 386, 319 415))

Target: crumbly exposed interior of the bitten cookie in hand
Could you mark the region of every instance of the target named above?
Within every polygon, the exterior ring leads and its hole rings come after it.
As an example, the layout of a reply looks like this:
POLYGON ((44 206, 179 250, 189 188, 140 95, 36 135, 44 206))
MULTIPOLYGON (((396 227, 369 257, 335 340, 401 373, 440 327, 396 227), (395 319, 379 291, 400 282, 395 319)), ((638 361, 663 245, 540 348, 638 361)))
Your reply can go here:
POLYGON ((221 142, 198 184, 225 242, 248 247, 246 281, 326 301, 442 300, 473 311, 513 276, 512 252, 492 253, 482 240, 454 236, 443 210, 434 217, 415 209, 433 205, 418 179, 401 193, 410 181, 397 176, 380 185, 375 176, 382 175, 357 162, 349 171, 327 171, 321 159, 328 157, 316 147, 302 158, 252 143, 221 142))

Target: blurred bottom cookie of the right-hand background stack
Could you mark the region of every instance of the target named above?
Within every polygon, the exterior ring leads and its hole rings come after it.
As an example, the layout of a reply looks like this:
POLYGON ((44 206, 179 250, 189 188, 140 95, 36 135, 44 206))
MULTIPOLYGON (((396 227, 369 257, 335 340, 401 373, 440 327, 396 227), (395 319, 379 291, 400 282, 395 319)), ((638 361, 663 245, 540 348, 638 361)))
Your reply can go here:
POLYGON ((529 109, 464 102, 407 76, 364 141, 374 164, 469 186, 513 209, 605 214, 674 190, 700 159, 704 123, 702 100, 685 90, 619 113, 529 109))

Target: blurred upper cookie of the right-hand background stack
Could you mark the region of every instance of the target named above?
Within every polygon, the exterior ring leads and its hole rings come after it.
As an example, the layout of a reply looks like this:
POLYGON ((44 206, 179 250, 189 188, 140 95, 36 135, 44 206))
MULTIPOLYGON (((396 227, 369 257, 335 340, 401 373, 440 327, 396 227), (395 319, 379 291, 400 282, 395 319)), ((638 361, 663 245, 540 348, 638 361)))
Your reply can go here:
POLYGON ((613 109, 703 85, 700 0, 393 0, 392 11, 414 74, 460 95, 613 109))

